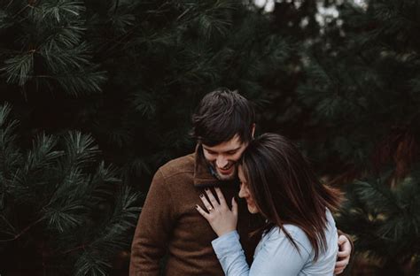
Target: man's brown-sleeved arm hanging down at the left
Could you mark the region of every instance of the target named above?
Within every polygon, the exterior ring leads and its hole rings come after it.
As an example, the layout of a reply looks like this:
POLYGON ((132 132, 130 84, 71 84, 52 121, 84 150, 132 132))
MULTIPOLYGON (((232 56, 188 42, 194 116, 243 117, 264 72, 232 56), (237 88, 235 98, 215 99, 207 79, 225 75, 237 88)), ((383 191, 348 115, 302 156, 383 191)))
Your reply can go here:
POLYGON ((165 180, 158 171, 136 226, 131 245, 130 276, 159 275, 159 260, 167 251, 167 240, 172 232, 173 209, 165 180))

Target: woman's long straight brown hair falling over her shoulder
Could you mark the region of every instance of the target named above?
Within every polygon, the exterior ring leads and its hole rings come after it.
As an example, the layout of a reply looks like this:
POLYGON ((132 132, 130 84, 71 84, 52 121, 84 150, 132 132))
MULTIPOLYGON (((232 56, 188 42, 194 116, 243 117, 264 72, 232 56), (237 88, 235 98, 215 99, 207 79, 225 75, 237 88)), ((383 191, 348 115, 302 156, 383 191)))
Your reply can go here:
POLYGON ((256 206, 268 219, 265 230, 279 226, 298 249, 284 224, 299 226, 315 249, 316 260, 327 247, 325 211, 337 210, 338 190, 323 185, 306 157, 279 134, 262 134, 250 142, 241 165, 256 206))

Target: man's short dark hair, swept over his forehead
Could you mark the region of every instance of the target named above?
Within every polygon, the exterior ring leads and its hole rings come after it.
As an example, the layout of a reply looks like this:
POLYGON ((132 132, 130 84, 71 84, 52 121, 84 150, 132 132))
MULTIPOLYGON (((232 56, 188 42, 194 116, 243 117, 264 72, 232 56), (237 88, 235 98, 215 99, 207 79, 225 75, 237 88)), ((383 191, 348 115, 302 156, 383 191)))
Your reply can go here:
POLYGON ((227 142, 236 134, 241 142, 252 139, 255 111, 253 105, 237 91, 217 88, 204 96, 192 115, 192 136, 215 146, 227 142))

